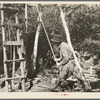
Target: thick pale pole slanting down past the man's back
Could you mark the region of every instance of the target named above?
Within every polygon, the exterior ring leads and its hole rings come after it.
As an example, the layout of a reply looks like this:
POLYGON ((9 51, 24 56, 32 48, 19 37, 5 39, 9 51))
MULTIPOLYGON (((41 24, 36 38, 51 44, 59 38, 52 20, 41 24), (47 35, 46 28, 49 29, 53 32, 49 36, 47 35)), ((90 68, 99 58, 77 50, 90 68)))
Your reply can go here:
POLYGON ((67 27, 67 23, 65 21, 65 14, 62 10, 62 8, 60 7, 60 5, 58 5, 59 8, 60 8, 60 16, 61 16, 61 20, 62 20, 62 23, 63 23, 63 27, 65 29, 65 33, 66 33, 66 39, 67 39, 67 42, 68 42, 68 45, 70 46, 70 49, 73 53, 73 56, 74 56, 74 59, 75 59, 75 63, 76 63, 76 66, 78 67, 79 71, 82 72, 82 68, 80 67, 80 64, 78 62, 78 59, 75 55, 75 52, 74 52, 74 49, 73 49, 73 46, 72 46, 72 43, 71 43, 71 39, 70 39, 70 33, 69 33, 69 29, 67 27))

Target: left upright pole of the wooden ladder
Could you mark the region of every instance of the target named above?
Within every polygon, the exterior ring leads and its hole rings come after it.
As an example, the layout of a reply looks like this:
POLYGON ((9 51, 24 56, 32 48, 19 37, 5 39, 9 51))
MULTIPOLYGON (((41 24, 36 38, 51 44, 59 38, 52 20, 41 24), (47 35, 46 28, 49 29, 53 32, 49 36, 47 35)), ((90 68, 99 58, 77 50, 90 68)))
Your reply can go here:
MULTIPOLYGON (((3 8, 3 4, 1 4, 1 8, 3 8)), ((3 10, 1 10, 2 41, 4 42, 5 41, 5 29, 4 29, 3 23, 4 23, 4 12, 3 10)), ((3 45, 4 73, 5 73, 5 78, 8 78, 7 65, 5 63, 6 60, 7 60, 6 47, 3 45)), ((8 92, 8 81, 7 80, 5 80, 5 86, 6 86, 6 92, 8 92)))

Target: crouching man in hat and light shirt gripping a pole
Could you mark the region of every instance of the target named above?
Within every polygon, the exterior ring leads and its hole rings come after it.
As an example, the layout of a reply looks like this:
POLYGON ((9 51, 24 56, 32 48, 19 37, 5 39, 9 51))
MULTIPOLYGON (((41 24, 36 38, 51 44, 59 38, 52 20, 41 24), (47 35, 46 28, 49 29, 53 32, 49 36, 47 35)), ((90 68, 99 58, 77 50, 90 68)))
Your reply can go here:
POLYGON ((79 72, 77 66, 75 65, 73 53, 69 45, 62 41, 62 37, 57 34, 53 36, 51 41, 53 43, 53 49, 56 55, 54 60, 57 66, 60 67, 58 84, 61 85, 63 82, 66 82, 67 78, 73 75, 78 80, 82 81, 85 90, 89 90, 91 87, 89 83, 83 79, 83 74, 79 72))

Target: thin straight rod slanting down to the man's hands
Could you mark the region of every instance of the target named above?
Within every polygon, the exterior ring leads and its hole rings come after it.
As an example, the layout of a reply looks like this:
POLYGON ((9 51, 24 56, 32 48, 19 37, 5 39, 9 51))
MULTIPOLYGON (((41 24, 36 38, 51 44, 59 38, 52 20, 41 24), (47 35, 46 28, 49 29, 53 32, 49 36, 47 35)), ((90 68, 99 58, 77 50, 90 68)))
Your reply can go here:
POLYGON ((43 26, 44 32, 45 32, 45 34, 46 34, 46 37, 47 37, 47 40, 48 40, 48 43, 49 43, 49 46, 50 46, 51 52, 52 52, 52 54, 53 54, 53 57, 56 58, 56 56, 55 56, 55 54, 54 54, 54 51, 53 51, 53 48, 52 48, 52 46, 51 46, 51 43, 50 43, 50 40, 49 40, 49 37, 48 37, 47 31, 46 31, 46 28, 45 28, 45 26, 44 26, 44 23, 43 23, 43 20, 42 20, 42 17, 41 17, 41 14, 40 14, 39 8, 38 8, 37 5, 36 5, 36 9, 37 9, 37 12, 38 12, 38 14, 39 14, 40 21, 41 21, 41 23, 42 23, 42 26, 43 26))

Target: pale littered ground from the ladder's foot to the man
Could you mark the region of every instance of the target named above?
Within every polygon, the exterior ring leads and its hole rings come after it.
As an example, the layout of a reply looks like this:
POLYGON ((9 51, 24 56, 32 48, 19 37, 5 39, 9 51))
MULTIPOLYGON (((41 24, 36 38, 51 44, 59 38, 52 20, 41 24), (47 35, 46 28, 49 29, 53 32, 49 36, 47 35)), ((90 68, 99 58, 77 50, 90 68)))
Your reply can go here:
MULTIPOLYGON (((46 70, 46 72, 39 73, 37 77, 34 78, 33 86, 31 88, 29 88, 30 82, 29 81, 25 82, 26 92, 49 92, 51 88, 51 77, 53 75, 47 74, 48 71, 46 70)), ((3 81, 4 77, 0 79, 0 85, 2 84, 3 81)), ((19 80, 15 80, 15 86, 14 86, 15 89, 13 91, 10 89, 9 85, 10 92, 22 92, 22 90, 18 89, 18 84, 17 84, 18 81, 19 80)), ((0 88, 0 92, 5 92, 5 87, 0 88)))

